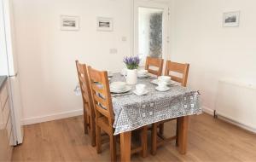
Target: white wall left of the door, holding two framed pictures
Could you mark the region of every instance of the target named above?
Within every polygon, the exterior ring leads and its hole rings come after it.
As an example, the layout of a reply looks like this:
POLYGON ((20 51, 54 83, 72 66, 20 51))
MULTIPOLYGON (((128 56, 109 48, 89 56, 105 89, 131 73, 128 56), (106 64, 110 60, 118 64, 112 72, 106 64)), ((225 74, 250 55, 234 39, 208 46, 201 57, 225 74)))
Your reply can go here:
POLYGON ((131 0, 13 1, 25 123, 81 113, 81 96, 73 92, 75 60, 99 69, 123 67, 131 48, 131 0), (79 15, 79 32, 61 31, 61 14, 79 15), (113 32, 97 32, 97 16, 112 17, 113 32))

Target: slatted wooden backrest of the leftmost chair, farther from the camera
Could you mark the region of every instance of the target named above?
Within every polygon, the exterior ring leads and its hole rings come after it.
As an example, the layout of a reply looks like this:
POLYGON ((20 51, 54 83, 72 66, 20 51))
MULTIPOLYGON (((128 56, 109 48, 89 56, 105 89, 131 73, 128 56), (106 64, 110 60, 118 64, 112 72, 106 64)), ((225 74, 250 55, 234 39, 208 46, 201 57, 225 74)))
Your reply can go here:
POLYGON ((92 117, 94 117, 94 107, 89 83, 89 76, 87 72, 87 68, 85 64, 80 64, 79 61, 76 61, 78 76, 79 76, 79 84, 81 89, 81 94, 83 96, 84 108, 86 113, 90 113, 92 117))

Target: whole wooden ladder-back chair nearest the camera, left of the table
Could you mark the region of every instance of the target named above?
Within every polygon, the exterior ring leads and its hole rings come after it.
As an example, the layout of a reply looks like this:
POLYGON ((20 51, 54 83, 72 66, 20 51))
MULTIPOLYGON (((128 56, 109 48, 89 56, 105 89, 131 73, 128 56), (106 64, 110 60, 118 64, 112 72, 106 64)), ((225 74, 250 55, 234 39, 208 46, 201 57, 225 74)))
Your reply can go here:
MULTIPOLYGON (((101 131, 105 131, 110 138, 111 161, 116 161, 116 141, 117 136, 113 136, 113 105, 108 83, 108 72, 100 72, 88 67, 90 77, 90 87, 94 101, 96 113, 96 150, 102 153, 101 131)), ((141 153, 143 157, 147 155, 147 126, 141 129, 141 146, 131 150, 131 153, 141 153)))

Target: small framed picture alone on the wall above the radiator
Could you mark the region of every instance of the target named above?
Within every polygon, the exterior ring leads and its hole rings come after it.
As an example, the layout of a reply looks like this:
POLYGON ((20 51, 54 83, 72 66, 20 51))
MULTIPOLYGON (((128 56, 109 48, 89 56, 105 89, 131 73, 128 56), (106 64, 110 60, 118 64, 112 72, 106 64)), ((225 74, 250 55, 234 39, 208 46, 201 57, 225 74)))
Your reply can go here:
POLYGON ((240 11, 225 12, 223 14, 224 27, 239 27, 240 11))

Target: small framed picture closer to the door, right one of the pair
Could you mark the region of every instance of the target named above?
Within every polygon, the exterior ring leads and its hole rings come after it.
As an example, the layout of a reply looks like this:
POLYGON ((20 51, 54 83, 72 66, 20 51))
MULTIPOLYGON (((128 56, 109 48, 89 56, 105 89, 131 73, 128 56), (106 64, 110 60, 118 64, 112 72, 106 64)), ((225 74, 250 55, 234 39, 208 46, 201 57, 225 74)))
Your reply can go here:
POLYGON ((112 32, 113 31, 113 18, 97 17, 97 31, 112 32))

